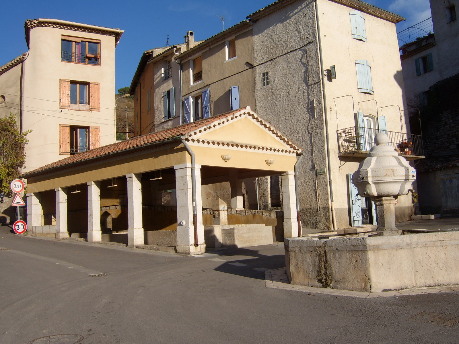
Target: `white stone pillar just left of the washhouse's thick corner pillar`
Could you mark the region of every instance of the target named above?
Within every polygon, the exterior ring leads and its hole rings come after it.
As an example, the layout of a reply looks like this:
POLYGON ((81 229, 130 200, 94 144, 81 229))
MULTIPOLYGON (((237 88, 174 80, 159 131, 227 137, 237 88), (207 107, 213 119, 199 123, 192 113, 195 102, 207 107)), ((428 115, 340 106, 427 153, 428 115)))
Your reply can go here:
POLYGON ((141 174, 129 173, 128 179, 128 246, 144 244, 142 222, 141 174))

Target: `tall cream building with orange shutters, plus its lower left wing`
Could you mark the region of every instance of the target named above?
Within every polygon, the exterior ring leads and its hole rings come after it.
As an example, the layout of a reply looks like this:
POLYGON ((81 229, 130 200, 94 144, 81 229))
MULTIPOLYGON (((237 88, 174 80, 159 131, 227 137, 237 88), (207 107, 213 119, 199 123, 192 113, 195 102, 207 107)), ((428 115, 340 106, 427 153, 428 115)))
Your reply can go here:
POLYGON ((0 67, 0 116, 31 129, 27 172, 115 142, 115 47, 123 30, 34 19, 28 52, 0 67))

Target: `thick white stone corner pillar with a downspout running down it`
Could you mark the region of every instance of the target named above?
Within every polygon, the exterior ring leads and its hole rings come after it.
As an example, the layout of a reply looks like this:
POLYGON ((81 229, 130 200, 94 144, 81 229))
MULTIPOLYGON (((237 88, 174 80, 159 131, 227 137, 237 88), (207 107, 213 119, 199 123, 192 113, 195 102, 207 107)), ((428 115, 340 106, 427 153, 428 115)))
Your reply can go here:
POLYGON ((174 166, 175 189, 177 190, 177 252, 196 255, 206 251, 204 226, 202 225, 201 165, 196 165, 197 241, 193 225, 193 203, 191 189, 191 164, 174 166))

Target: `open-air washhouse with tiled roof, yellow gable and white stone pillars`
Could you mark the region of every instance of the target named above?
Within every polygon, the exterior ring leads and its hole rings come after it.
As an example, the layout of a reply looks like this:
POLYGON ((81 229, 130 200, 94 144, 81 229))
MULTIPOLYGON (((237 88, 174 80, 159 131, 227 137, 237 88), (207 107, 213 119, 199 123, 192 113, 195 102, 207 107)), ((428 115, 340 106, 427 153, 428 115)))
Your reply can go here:
POLYGON ((22 175, 29 232, 191 255, 297 237, 300 153, 250 107, 84 151, 22 175), (245 209, 243 180, 266 176, 282 211, 245 209))

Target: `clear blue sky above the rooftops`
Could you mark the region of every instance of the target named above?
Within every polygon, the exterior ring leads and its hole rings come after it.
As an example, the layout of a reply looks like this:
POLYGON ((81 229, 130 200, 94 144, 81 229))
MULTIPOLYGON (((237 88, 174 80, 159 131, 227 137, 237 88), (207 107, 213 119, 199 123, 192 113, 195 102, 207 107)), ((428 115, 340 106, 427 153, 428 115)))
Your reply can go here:
MULTIPOLYGON (((26 19, 53 18, 124 30, 116 49, 115 89, 129 86, 143 51, 169 43, 183 43, 189 30, 195 39, 207 39, 241 22, 274 0, 131 0, 131 1, 5 1, 0 20, 0 66, 27 51, 26 19)), ((366 0, 407 19, 397 31, 430 17, 429 0, 366 0)))

